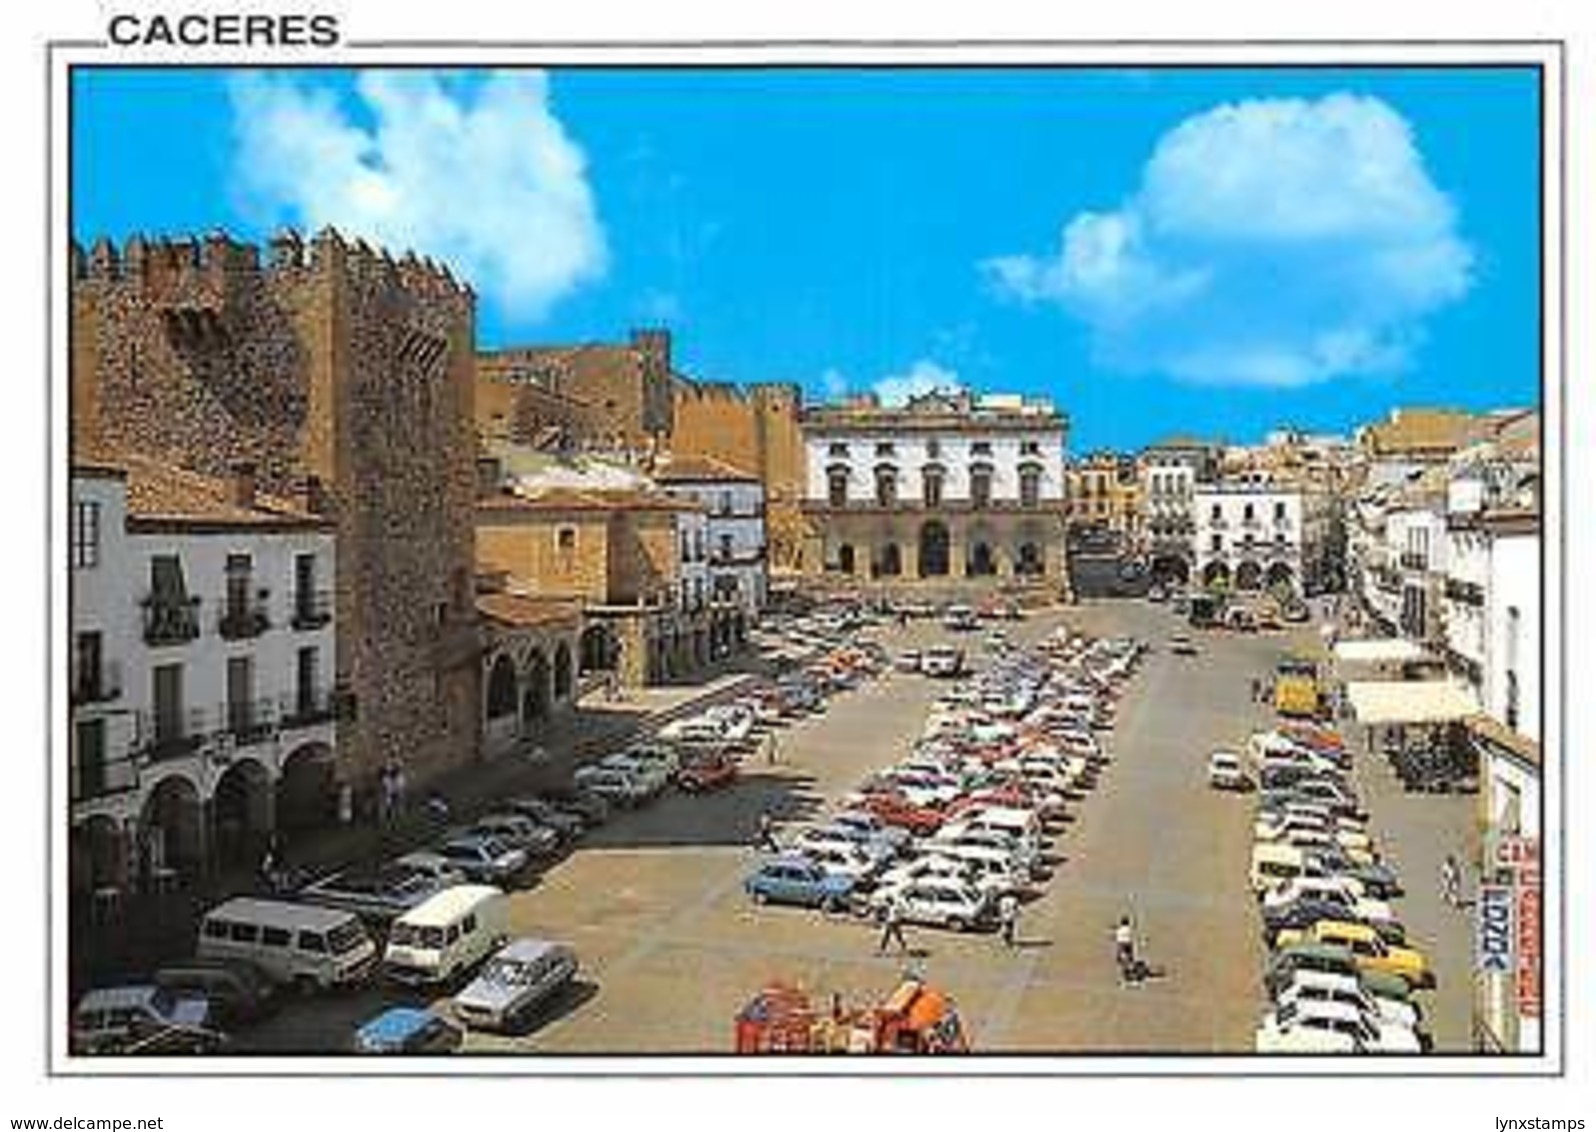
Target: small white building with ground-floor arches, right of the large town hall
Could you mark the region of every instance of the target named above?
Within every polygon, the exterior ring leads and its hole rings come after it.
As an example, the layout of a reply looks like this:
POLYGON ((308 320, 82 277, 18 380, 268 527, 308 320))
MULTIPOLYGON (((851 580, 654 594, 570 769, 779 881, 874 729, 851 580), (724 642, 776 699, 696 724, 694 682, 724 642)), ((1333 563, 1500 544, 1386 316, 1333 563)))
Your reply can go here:
POLYGON ((1266 479, 1192 492, 1195 573, 1205 588, 1312 594, 1325 578, 1328 506, 1321 493, 1266 479))

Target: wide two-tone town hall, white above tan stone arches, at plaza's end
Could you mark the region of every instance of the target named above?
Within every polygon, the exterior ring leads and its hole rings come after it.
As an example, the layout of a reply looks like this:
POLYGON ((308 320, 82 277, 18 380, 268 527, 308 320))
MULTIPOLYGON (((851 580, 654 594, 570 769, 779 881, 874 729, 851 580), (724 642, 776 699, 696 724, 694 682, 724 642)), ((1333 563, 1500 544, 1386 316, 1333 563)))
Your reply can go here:
POLYGON ((1052 404, 1017 396, 806 410, 804 573, 854 589, 1057 592, 1065 431, 1052 404))

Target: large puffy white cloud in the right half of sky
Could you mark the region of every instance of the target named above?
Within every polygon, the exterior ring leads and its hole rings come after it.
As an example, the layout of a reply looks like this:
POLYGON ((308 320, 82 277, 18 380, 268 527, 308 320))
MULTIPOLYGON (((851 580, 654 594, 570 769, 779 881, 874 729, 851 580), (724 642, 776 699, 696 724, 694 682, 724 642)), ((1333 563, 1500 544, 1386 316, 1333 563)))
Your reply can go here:
POLYGON ((1057 254, 983 263, 1080 318, 1111 367, 1266 386, 1401 369, 1472 267, 1412 129, 1353 94, 1187 118, 1138 192, 1073 217, 1057 254))

